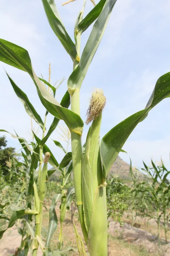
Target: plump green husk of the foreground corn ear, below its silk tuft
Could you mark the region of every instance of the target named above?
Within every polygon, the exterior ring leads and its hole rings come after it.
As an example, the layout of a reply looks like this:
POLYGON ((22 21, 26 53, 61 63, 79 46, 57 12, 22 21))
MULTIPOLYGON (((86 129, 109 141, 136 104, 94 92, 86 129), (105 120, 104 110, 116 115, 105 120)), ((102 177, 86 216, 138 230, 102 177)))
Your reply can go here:
POLYGON ((106 182, 103 179, 99 154, 99 133, 102 113, 89 128, 82 161, 82 201, 88 250, 91 256, 107 255, 108 220, 106 182))

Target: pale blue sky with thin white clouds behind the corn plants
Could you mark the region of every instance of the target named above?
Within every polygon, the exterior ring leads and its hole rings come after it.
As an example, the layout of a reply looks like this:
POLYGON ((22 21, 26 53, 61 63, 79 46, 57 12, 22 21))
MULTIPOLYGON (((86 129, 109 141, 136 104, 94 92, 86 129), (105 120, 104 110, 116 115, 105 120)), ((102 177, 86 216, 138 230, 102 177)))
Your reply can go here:
MULTIPOLYGON (((57 9, 68 34, 74 40, 74 23, 83 1, 76 0, 66 6, 62 6, 63 2, 56 1, 57 9)), ((42 74, 48 80, 50 62, 51 81, 55 83, 65 77, 56 93, 56 99, 60 102, 67 90, 67 80, 73 64, 49 26, 41 0, 0 0, 0 6, 0 38, 27 49, 38 76, 42 74)), ((92 8, 91 1, 87 0, 85 15, 92 8)), ((157 79, 170 71, 169 13, 169 0, 117 0, 80 91, 81 117, 84 122, 89 99, 95 88, 101 88, 106 96, 101 138, 116 124, 142 110, 157 79)), ((81 52, 91 29, 92 26, 82 34, 81 52)), ((42 120, 45 115, 45 108, 29 75, 0 62, 0 129, 11 133, 15 130, 20 137, 31 141, 31 119, 14 93, 5 70, 27 94, 42 120)), ((162 158, 167 168, 170 168, 169 109, 170 99, 164 99, 139 123, 123 146, 128 154, 119 154, 123 160, 129 163, 130 157, 133 166, 142 168, 142 160, 150 165, 151 158, 157 163, 162 158)), ((48 114, 47 130, 53 118, 48 114)), ((60 122, 60 126, 62 125, 60 122)), ((36 122, 33 122, 33 126, 37 131, 36 122)), ((64 155, 52 141, 59 140, 57 131, 54 131, 46 144, 60 162, 64 155)), ((85 125, 83 143, 87 131, 88 126, 85 125)), ((8 146, 19 150, 18 141, 10 134, 5 135, 8 146)), ((40 129, 37 135, 42 136, 40 129)), ((65 143, 63 145, 66 146, 65 143)))

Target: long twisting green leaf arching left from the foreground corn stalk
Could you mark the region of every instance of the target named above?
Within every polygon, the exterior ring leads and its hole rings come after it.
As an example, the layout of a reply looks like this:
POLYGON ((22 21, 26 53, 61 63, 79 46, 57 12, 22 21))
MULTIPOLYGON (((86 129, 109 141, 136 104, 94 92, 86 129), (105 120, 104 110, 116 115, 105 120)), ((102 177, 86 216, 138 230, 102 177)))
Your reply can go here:
POLYGON ((0 39, 0 61, 28 72, 37 88, 38 96, 47 111, 55 117, 63 119, 71 131, 76 132, 80 136, 82 135, 82 127, 84 125, 82 119, 73 111, 63 108, 49 93, 35 74, 26 49, 0 39))

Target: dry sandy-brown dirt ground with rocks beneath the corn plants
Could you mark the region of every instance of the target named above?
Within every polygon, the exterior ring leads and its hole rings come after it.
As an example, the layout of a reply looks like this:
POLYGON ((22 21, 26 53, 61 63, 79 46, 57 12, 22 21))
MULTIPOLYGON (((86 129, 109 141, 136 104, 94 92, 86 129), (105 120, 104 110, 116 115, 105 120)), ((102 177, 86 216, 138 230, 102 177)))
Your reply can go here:
MULTIPOLYGON (((47 209, 43 211, 43 227, 48 228, 48 204, 47 209)), ((59 205, 56 207, 58 217, 58 227, 54 236, 51 239, 52 249, 57 249, 57 241, 59 237, 59 205)), ((74 221, 79 235, 83 239, 80 223, 78 221, 77 212, 74 215, 74 221)), ((123 218, 122 226, 119 222, 110 221, 108 228, 108 256, 170 256, 170 243, 165 244, 163 229, 161 230, 161 239, 156 236, 156 222, 151 220, 144 225, 142 221, 137 220, 137 227, 132 227, 129 224, 128 218, 123 218)), ((74 236, 74 226, 71 222, 71 212, 67 212, 65 223, 63 225, 63 248, 71 246, 77 247, 74 236)), ((170 232, 169 232, 170 233, 170 232)), ((170 234, 168 234, 170 236, 170 234)), ((45 241, 45 231, 42 233, 42 240, 45 241)), ((8 229, 3 238, 0 240, 0 256, 14 255, 17 247, 20 246, 21 236, 17 231, 17 227, 13 226, 8 229)), ((87 247, 85 246, 86 251, 87 247)), ((79 253, 70 252, 70 256, 78 256, 79 253)), ((88 255, 88 253, 87 253, 88 255)), ((31 254, 29 253, 29 256, 31 254)), ((39 249, 37 256, 42 256, 42 251, 39 249)))

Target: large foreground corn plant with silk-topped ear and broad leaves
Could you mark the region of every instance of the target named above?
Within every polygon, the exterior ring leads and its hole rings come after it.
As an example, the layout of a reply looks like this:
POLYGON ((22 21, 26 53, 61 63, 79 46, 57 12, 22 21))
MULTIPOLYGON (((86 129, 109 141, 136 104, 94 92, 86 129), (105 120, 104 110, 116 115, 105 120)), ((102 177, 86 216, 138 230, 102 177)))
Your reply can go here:
MULTIPOLYGON (((71 98, 71 110, 65 108, 62 102, 59 104, 44 87, 33 69, 26 49, 0 39, 0 61, 27 72, 31 76, 37 88, 38 96, 47 111, 57 119, 62 119, 70 130, 74 188, 82 232, 90 255, 106 256, 108 239, 106 177, 136 125, 142 122, 147 117, 148 112, 161 100, 170 96, 170 73, 166 73, 158 79, 146 107, 113 127, 102 138, 101 142, 99 134, 102 110, 106 99, 102 91, 97 90, 91 97, 87 113, 86 123, 92 122, 92 125, 88 130, 83 155, 82 131, 84 122, 80 117, 79 93, 116 0, 100 0, 85 18, 83 18, 84 2, 76 19, 74 41, 63 25, 54 0, 42 0, 42 3, 51 29, 73 61, 73 72, 68 78, 68 91, 65 94, 68 99, 71 98), (93 22, 95 22, 94 26, 80 56, 81 35, 93 22)), ((40 145, 42 144, 40 143, 40 145)), ((76 238, 79 238, 77 232, 76 238)), ((81 241, 78 244, 81 253, 84 250, 81 250, 80 245, 82 246, 81 241)))

